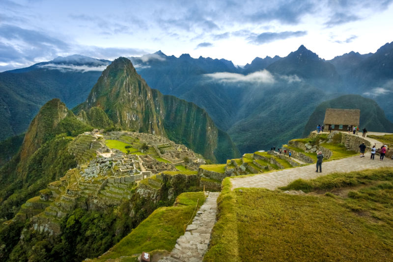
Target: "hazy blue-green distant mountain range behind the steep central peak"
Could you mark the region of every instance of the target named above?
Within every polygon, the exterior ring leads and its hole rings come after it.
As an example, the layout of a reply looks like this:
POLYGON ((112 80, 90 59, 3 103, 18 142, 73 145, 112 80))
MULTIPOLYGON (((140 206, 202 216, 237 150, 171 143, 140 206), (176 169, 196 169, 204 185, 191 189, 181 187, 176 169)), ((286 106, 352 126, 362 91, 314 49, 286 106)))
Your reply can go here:
MULTIPOLYGON (((345 94, 376 100, 393 120, 393 43, 332 60, 302 45, 286 57, 256 57, 243 68, 225 59, 177 58, 161 51, 130 60, 153 89, 205 109, 241 153, 301 136, 317 105, 345 94)), ((0 73, 0 139, 26 131, 39 106, 54 97, 69 108, 84 102, 102 73, 92 70, 109 63, 74 55, 0 73)))

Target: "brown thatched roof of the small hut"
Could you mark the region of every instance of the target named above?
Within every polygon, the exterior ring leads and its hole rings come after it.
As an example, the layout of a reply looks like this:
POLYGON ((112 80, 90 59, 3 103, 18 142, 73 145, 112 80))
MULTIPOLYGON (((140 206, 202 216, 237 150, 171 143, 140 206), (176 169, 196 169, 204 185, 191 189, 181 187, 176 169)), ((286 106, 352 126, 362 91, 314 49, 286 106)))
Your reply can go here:
POLYGON ((359 126, 360 109, 333 109, 326 108, 325 125, 359 126))

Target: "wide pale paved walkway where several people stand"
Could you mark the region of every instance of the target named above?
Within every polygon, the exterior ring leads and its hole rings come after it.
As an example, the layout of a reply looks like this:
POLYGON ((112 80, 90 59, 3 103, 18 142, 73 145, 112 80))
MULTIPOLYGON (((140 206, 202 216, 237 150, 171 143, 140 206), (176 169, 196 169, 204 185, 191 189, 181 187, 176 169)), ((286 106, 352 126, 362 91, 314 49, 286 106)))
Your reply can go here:
POLYGON ((258 174, 252 177, 231 179, 232 189, 238 187, 264 187, 271 190, 280 186, 285 186, 297 179, 313 179, 334 172, 351 172, 363 169, 373 169, 380 167, 393 167, 393 160, 385 157, 384 161, 375 156, 375 160, 370 159, 370 153, 365 157, 347 157, 338 160, 325 161, 322 163, 322 173, 315 172, 315 164, 307 166, 283 169, 281 171, 258 174))

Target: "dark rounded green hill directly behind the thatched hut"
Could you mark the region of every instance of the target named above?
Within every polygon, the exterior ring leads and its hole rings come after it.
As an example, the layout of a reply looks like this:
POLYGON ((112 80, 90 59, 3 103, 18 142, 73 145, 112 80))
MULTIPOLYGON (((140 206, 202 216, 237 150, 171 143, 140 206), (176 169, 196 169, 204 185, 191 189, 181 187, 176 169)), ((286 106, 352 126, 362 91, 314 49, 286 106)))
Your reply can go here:
POLYGON ((360 128, 367 131, 393 132, 393 123, 372 99, 360 95, 345 95, 319 104, 309 117, 303 136, 309 135, 317 125, 322 125, 326 108, 360 109, 360 128))

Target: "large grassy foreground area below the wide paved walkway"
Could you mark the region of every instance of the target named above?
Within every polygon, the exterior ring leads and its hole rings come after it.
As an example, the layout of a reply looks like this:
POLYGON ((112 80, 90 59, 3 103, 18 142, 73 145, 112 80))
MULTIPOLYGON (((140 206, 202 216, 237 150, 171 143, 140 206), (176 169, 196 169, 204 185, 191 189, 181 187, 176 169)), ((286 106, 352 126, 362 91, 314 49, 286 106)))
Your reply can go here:
POLYGON ((393 170, 336 173, 285 190, 230 190, 218 199, 206 262, 393 261, 393 170), (263 226, 261 226, 263 225, 263 226))

